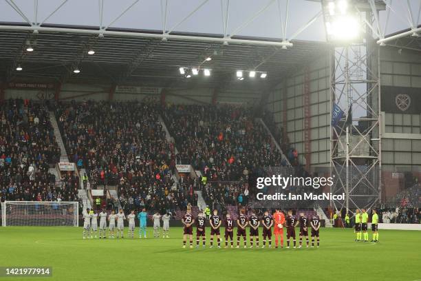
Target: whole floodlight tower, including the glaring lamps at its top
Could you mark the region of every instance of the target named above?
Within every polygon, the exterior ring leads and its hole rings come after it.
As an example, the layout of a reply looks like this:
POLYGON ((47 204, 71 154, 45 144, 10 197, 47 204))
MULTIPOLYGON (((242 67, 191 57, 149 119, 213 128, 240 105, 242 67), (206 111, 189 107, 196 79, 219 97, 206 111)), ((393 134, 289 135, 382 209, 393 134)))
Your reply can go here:
POLYGON ((380 59, 371 30, 374 0, 322 0, 330 63, 330 166, 336 210, 370 209, 380 199, 380 59), (370 3, 371 2, 371 3, 370 3))

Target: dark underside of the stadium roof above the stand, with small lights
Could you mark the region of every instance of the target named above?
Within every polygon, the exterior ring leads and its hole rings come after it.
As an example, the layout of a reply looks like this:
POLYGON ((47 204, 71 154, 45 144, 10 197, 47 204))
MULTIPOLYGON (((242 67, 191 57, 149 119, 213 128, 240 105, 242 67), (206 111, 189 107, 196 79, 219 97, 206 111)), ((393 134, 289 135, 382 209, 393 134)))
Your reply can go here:
MULTIPOLYGON (((53 25, 49 25, 53 27, 53 25)), ((87 27, 69 27, 89 29, 87 27)), ((144 30, 122 30, 146 32, 144 30)), ((147 32, 151 32, 150 30, 147 32)), ((158 33, 158 31, 157 31, 158 33)), ((186 35, 184 33, 184 35, 186 35)), ((197 36, 198 34, 190 34, 197 36)), ((200 34, 202 37, 208 34, 200 34)), ((241 39, 268 39, 237 37, 241 39)), ((244 45, 171 39, 124 37, 67 32, 33 32, 0 30, 0 72, 8 80, 34 79, 39 82, 65 81, 80 83, 116 83, 156 87, 215 87, 261 90, 279 81, 307 61, 327 51, 327 43, 292 41, 294 48, 275 45, 244 45), (27 52, 27 45, 34 52, 27 52), (94 55, 87 54, 94 50, 94 55), (206 61, 210 56, 211 61, 206 61), (15 70, 21 65, 23 70, 15 70), (74 68, 80 69, 74 74, 74 68), (209 69, 210 76, 199 74, 186 79, 179 67, 209 69), (268 74, 266 79, 236 79, 237 70, 257 70, 268 74), (256 83, 257 82, 257 83, 256 83)), ((248 75, 246 72, 244 76, 248 75)))

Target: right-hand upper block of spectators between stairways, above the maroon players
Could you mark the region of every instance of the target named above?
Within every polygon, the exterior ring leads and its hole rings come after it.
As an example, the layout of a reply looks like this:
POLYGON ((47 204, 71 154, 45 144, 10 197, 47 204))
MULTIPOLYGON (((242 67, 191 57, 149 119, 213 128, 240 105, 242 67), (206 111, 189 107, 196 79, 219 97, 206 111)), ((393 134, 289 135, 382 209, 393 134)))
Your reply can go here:
POLYGON ((246 180, 244 171, 287 165, 266 130, 243 105, 167 105, 164 120, 180 152, 208 180, 246 180))

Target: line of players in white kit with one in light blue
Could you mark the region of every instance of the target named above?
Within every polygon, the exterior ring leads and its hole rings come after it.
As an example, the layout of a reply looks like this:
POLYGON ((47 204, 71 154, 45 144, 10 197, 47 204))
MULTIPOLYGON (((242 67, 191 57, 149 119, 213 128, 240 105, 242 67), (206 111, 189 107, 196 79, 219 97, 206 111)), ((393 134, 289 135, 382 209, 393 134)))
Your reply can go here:
MULTIPOLYGON (((141 212, 138 213, 138 220, 139 220, 139 238, 143 237, 147 238, 147 211, 146 209, 142 209, 141 212)), ((107 238, 107 220, 109 222, 109 238, 114 238, 114 234, 116 234, 116 238, 124 238, 124 230, 125 225, 124 221, 129 220, 129 237, 134 238, 134 231, 135 231, 135 211, 132 210, 129 215, 125 215, 122 209, 115 214, 114 210, 111 211, 111 214, 107 214, 105 209, 99 214, 96 214, 94 210, 86 209, 83 212, 83 239, 85 238, 95 238, 97 237, 98 231, 98 217, 100 218, 99 224, 99 238, 107 238), (117 226, 116 226, 117 223, 117 226)), ((161 216, 158 213, 153 215, 153 236, 159 237, 160 236, 160 220, 162 219, 163 226, 162 226, 162 238, 169 238, 169 221, 171 219, 170 214, 164 214, 161 216)))

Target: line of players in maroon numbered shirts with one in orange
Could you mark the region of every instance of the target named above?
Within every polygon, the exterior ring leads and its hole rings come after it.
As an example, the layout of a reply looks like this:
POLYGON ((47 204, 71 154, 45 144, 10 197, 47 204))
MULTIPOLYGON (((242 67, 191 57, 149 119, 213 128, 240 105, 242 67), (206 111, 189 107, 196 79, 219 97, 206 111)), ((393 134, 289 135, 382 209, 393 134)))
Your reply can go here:
MULTIPOLYGON (((182 223, 184 225, 184 236, 183 236, 183 248, 186 248, 187 238, 189 238, 190 247, 193 248, 193 224, 196 225, 196 248, 199 247, 200 238, 202 237, 202 245, 206 247, 206 218, 202 211, 199 212, 197 218, 193 218, 191 214, 191 209, 188 208, 186 214, 182 218, 182 223)), ((213 210, 213 215, 209 218, 210 223, 210 248, 213 247, 213 242, 215 236, 217 238, 217 247, 221 247, 221 238, 219 228, 222 225, 222 218, 218 215, 218 211, 213 210)), ((234 220, 230 217, 230 214, 226 215, 224 220, 225 225, 225 247, 228 247, 228 240, 230 240, 230 246, 234 246, 234 220)), ((292 215, 292 211, 288 211, 288 216, 285 219, 284 214, 280 209, 277 209, 273 215, 269 214, 269 211, 265 211, 262 218, 256 216, 256 212, 253 210, 250 218, 247 218, 245 215, 244 209, 241 209, 240 215, 237 218, 237 248, 239 248, 240 238, 244 240, 244 248, 247 248, 247 238, 246 238, 246 227, 250 227, 250 248, 254 246, 256 242, 256 247, 259 248, 259 226, 263 226, 263 247, 266 247, 268 242, 269 248, 272 247, 272 227, 274 228, 275 236, 275 248, 278 248, 278 238, 281 238, 281 248, 283 248, 283 227, 287 229, 287 248, 290 248, 290 240, 294 243, 294 248, 296 248, 296 235, 295 227, 300 226, 299 233, 299 248, 302 247, 303 237, 306 239, 307 248, 309 247, 310 241, 308 237, 308 228, 311 228, 311 237, 312 237, 312 246, 314 247, 314 237, 317 240, 317 247, 320 245, 319 240, 319 229, 321 226, 319 217, 312 216, 312 218, 307 218, 303 213, 300 214, 299 219, 296 219, 296 216, 292 215)))

